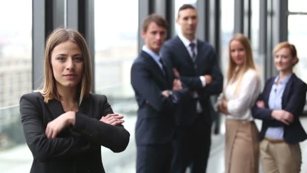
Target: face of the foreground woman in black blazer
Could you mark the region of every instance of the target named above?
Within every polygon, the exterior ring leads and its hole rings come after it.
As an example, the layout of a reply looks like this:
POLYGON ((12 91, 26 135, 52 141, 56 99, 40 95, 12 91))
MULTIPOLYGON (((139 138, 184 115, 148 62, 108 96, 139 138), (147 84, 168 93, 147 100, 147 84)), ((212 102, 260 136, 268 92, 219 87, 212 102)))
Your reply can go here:
POLYGON ((81 81, 84 60, 79 46, 74 41, 62 42, 54 48, 51 65, 57 87, 74 88, 81 81))

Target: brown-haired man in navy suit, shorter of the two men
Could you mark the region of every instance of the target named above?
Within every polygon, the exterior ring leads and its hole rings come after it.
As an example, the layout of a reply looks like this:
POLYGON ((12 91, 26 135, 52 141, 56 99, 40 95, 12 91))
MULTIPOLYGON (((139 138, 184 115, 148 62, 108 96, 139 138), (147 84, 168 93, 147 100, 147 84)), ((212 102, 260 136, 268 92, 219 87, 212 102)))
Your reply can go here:
POLYGON ((131 84, 139 107, 135 127, 138 173, 170 172, 174 106, 184 96, 184 90, 160 56, 167 27, 160 15, 145 18, 142 26, 145 45, 131 67, 131 84))

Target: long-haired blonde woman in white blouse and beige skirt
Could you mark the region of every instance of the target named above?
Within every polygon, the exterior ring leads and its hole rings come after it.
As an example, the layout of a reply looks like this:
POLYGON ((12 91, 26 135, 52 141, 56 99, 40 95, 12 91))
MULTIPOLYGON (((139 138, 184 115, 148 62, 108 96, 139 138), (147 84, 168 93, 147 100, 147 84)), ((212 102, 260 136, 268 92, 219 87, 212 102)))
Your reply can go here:
POLYGON ((260 94, 260 78, 249 39, 235 34, 229 42, 229 69, 218 109, 226 115, 226 173, 259 170, 258 129, 251 107, 260 94))

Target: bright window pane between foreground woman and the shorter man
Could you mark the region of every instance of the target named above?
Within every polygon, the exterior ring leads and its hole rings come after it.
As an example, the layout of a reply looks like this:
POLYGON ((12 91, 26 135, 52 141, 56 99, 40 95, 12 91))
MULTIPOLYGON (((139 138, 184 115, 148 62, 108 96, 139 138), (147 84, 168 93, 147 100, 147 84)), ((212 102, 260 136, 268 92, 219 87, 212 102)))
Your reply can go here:
POLYGON ((125 115, 124 126, 130 133, 124 152, 101 148, 104 167, 106 172, 135 172, 138 107, 130 84, 130 69, 138 56, 138 0, 98 0, 94 4, 95 93, 106 95, 113 111, 125 115))

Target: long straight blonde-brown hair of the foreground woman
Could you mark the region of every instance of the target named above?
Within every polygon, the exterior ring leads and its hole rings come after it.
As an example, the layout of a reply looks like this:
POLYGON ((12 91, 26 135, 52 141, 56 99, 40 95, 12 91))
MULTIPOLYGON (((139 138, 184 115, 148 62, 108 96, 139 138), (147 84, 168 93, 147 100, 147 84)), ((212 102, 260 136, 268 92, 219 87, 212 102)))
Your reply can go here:
POLYGON ((83 75, 81 81, 77 85, 77 99, 79 105, 83 98, 88 97, 91 90, 91 58, 88 47, 83 36, 75 30, 57 28, 49 34, 46 40, 46 47, 44 52, 44 82, 41 90, 38 90, 44 97, 44 102, 48 103, 49 100, 60 100, 60 96, 56 88, 56 79, 53 74, 51 64, 51 55, 56 46, 65 41, 74 41, 81 49, 83 56, 83 75))

